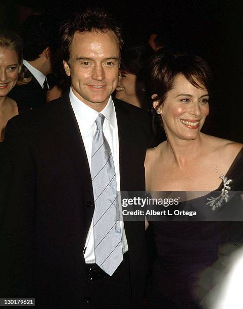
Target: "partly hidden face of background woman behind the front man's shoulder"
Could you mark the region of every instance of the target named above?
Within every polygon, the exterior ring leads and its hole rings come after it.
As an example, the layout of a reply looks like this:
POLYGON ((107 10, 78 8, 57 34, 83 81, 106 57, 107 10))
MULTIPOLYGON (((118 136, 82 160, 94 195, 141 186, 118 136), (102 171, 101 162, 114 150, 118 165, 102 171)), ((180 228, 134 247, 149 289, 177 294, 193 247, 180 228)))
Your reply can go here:
POLYGON ((121 72, 116 88, 116 98, 133 104, 134 97, 136 97, 136 75, 121 72))

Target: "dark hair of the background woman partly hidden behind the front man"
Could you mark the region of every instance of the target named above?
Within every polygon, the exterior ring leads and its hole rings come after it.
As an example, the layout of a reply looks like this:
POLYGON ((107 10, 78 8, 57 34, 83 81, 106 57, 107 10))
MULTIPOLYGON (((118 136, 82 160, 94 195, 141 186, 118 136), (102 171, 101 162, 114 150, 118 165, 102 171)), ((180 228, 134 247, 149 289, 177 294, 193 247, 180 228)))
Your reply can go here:
POLYGON ((145 106, 145 76, 149 59, 154 53, 154 49, 146 43, 127 46, 121 56, 120 71, 136 75, 136 96, 144 109, 147 109, 145 106))

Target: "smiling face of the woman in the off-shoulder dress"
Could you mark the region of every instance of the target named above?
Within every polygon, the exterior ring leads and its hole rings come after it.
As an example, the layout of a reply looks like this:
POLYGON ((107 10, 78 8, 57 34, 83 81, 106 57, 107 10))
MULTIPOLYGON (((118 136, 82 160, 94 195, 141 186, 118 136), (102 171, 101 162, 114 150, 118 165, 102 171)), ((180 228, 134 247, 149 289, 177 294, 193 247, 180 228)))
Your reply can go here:
MULTIPOLYGON (((178 74, 173 88, 167 92, 159 108, 167 136, 183 140, 196 139, 209 114, 207 89, 193 86, 183 74, 178 74)), ((154 107, 158 104, 154 102, 154 107)))

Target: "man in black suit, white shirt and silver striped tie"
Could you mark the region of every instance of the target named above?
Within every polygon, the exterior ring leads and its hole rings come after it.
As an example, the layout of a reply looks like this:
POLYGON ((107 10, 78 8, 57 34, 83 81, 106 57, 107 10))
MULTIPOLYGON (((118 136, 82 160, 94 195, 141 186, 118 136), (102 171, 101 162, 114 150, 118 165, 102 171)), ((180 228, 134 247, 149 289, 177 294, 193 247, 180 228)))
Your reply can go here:
POLYGON ((70 92, 8 124, 1 297, 35 297, 43 308, 142 306, 144 222, 121 221, 117 190, 144 190, 149 125, 111 98, 121 46, 104 12, 65 22, 70 92))

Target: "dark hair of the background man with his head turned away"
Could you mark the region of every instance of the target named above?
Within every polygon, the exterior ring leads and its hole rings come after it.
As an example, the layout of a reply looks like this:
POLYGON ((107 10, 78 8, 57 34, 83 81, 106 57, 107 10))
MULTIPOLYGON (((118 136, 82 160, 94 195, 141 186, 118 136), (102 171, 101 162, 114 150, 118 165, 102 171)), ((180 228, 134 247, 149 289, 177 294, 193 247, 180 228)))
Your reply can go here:
POLYGON ((57 35, 55 35, 55 23, 50 18, 40 15, 29 16, 20 28, 20 36, 23 40, 23 56, 28 61, 39 58, 46 47, 52 52, 57 47, 57 35))

